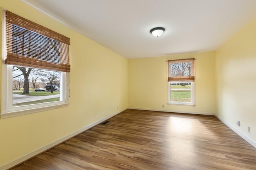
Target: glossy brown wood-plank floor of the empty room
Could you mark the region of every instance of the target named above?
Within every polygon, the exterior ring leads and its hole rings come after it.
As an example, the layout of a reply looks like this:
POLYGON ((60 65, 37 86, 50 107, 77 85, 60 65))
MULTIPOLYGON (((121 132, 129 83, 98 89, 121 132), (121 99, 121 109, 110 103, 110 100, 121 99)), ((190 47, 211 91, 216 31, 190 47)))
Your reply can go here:
POLYGON ((256 170, 256 149, 215 116, 128 109, 13 170, 256 170))

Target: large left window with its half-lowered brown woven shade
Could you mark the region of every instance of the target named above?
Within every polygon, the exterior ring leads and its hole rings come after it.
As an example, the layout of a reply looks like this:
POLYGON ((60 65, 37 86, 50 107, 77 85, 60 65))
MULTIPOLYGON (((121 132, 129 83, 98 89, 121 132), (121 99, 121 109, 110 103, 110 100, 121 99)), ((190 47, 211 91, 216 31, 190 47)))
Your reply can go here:
POLYGON ((68 105, 70 39, 2 10, 1 118, 68 105))

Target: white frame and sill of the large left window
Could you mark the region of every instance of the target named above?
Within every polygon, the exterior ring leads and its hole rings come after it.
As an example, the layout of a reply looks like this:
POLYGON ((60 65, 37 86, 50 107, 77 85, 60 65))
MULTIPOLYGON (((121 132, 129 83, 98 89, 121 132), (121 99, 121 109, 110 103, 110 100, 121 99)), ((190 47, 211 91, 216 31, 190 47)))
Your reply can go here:
POLYGON ((68 106, 69 72, 60 72, 60 101, 26 106, 12 106, 12 65, 4 64, 6 59, 6 24, 5 12, 2 9, 2 80, 1 80, 1 119, 36 113, 68 106))

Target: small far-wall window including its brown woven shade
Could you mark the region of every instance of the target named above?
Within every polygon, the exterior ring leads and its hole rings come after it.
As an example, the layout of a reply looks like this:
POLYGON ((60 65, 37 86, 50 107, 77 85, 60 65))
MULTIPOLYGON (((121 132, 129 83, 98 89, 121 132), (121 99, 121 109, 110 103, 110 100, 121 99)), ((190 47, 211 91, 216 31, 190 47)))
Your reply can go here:
POLYGON ((168 61, 168 104, 194 105, 194 59, 168 61))

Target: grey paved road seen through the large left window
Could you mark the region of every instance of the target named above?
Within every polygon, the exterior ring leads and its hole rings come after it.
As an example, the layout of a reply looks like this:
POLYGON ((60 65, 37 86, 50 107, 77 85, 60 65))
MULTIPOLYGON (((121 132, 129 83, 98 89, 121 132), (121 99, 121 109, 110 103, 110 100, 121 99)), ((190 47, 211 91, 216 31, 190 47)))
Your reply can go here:
POLYGON ((25 96, 21 94, 12 94, 12 103, 23 103, 23 102, 31 102, 36 100, 50 99, 50 98, 58 98, 59 94, 49 95, 49 96, 25 96))

